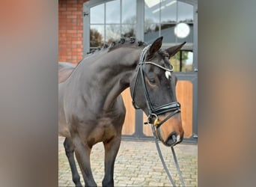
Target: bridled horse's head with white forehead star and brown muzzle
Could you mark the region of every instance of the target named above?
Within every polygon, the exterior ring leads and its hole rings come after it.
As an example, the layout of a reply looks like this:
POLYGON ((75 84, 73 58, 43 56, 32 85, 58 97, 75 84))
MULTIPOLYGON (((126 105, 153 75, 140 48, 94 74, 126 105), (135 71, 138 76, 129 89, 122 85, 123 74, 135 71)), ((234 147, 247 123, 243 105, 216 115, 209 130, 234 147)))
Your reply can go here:
POLYGON ((183 140, 180 103, 175 93, 177 78, 172 73, 169 58, 184 44, 162 50, 162 37, 159 37, 146 46, 130 85, 133 105, 147 114, 148 123, 154 124, 156 135, 166 146, 183 140))

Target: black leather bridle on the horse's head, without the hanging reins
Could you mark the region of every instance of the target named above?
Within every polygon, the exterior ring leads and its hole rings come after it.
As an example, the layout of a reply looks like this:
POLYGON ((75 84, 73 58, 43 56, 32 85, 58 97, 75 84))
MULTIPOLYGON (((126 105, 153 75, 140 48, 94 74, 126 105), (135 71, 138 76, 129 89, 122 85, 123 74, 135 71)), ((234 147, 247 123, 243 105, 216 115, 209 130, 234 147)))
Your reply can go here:
POLYGON ((161 105, 157 108, 153 108, 152 103, 150 102, 150 96, 148 95, 148 91, 147 91, 147 87, 146 87, 146 83, 144 80, 144 73, 143 73, 143 65, 144 64, 150 64, 156 67, 159 67, 162 70, 168 71, 168 72, 173 72, 173 67, 171 67, 171 69, 168 69, 166 67, 162 67, 159 64, 156 64, 154 62, 151 61, 146 61, 146 55, 147 55, 147 51, 148 49, 150 49, 150 45, 146 46, 140 55, 139 58, 139 63, 138 63, 138 70, 137 70, 137 74, 136 74, 136 78, 135 78, 135 85, 133 87, 132 90, 132 105, 134 106, 135 109, 139 109, 138 105, 135 104, 135 89, 138 85, 138 75, 140 73, 141 75, 141 83, 142 83, 142 88, 144 91, 144 97, 146 99, 146 103, 147 103, 147 110, 149 112, 149 115, 147 117, 147 124, 151 123, 153 120, 153 117, 155 118, 153 124, 154 126, 156 126, 156 129, 158 129, 160 126, 162 126, 163 123, 165 123, 166 120, 168 120, 170 117, 174 116, 174 114, 177 114, 178 112, 180 112, 180 103, 179 102, 170 102, 168 104, 165 105, 161 105), (161 114, 165 114, 167 112, 172 111, 171 114, 169 114, 167 117, 165 117, 164 120, 162 120, 160 123, 158 121, 158 116, 161 114))

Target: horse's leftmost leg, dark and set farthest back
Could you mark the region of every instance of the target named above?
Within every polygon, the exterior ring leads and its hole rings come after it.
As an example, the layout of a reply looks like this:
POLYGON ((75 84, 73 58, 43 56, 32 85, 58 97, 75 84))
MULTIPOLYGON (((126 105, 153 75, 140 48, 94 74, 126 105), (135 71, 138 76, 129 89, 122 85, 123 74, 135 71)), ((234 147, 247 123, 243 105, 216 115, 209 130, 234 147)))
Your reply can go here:
POLYGON ((68 162, 70 163, 70 169, 72 173, 72 179, 76 186, 82 186, 80 177, 76 168, 76 162, 74 158, 74 146, 70 138, 65 138, 64 147, 68 162))

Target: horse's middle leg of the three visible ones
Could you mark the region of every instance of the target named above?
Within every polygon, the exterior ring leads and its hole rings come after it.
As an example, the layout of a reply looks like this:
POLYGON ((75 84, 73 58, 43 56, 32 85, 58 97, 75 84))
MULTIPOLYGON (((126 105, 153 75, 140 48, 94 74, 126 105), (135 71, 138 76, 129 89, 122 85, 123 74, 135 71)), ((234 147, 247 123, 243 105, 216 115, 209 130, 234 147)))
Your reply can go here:
POLYGON ((76 141, 73 141, 73 144, 76 147, 76 160, 79 163, 79 167, 82 171, 82 177, 85 180, 85 186, 97 186, 97 184, 94 181, 93 174, 91 172, 91 147, 88 147, 88 145, 83 144, 79 138, 76 138, 76 141))

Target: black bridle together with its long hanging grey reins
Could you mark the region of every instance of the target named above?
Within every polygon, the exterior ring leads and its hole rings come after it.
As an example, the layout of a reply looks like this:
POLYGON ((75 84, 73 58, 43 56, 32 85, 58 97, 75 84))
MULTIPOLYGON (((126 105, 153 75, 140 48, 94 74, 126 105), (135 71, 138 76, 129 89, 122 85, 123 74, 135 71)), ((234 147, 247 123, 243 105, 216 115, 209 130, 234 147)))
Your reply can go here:
MULTIPOLYGON (((175 186, 175 183, 174 183, 174 180, 172 179, 171 177, 171 174, 169 173, 168 171, 168 168, 167 166, 165 165, 165 161, 162 157, 162 152, 160 150, 160 147, 159 147, 159 142, 158 142, 158 138, 156 136, 156 130, 158 131, 159 130, 159 127, 165 123, 165 121, 167 121, 169 118, 171 118, 172 116, 174 116, 174 114, 177 114, 178 112, 180 112, 180 103, 179 102, 171 102, 171 103, 168 103, 168 104, 165 104, 165 105, 161 105, 157 108, 153 108, 153 105, 152 103, 150 102, 150 97, 148 95, 148 92, 147 92, 147 87, 146 87, 146 84, 145 84, 145 81, 144 81, 144 73, 143 73, 143 70, 142 70, 142 66, 144 64, 150 64, 150 65, 153 65, 153 66, 156 66, 156 67, 159 67, 160 69, 162 70, 165 70, 165 71, 168 71, 169 73, 173 72, 173 67, 171 67, 171 69, 168 69, 168 68, 165 68, 165 67, 162 67, 160 66, 159 64, 156 64, 154 62, 151 62, 151 61, 145 61, 146 59, 146 54, 147 54, 147 50, 150 48, 150 45, 149 46, 146 46, 142 52, 141 52, 141 55, 140 55, 140 58, 139 58, 139 63, 138 63, 138 70, 137 70, 137 75, 136 75, 136 78, 135 78, 135 85, 134 85, 134 88, 132 90, 132 105, 134 106, 135 109, 139 109, 138 105, 135 104, 135 89, 138 85, 138 75, 140 73, 141 75, 141 82, 142 82, 142 88, 143 88, 143 91, 144 91, 144 96, 145 96, 145 99, 146 99, 146 103, 147 103, 147 109, 149 111, 149 115, 147 117, 147 122, 146 124, 150 124, 151 125, 151 128, 152 128, 152 132, 153 132, 153 137, 155 139, 155 143, 156 143, 156 149, 157 149, 157 152, 159 154, 159 158, 161 159, 161 162, 162 162, 162 165, 163 165, 163 168, 165 169, 165 172, 166 174, 168 175, 168 178, 169 180, 171 181, 171 184, 172 186, 175 186), (169 111, 172 111, 171 114, 169 114, 167 117, 165 117, 164 120, 162 120, 160 123, 158 121, 158 115, 160 114, 165 114, 169 111), (155 117, 156 119, 154 120, 153 123, 150 123, 153 119, 153 117, 155 117), (156 128, 156 129, 155 129, 156 128)), ((163 142, 163 141, 162 141, 163 142)), ((164 142, 163 142, 164 143, 164 142)), ((177 162, 177 157, 176 157, 176 154, 174 152, 174 147, 171 147, 171 153, 172 155, 174 156, 174 162, 175 162, 175 166, 177 168, 177 173, 180 177, 180 181, 182 183, 182 186, 185 186, 184 182, 183 182, 183 177, 181 175, 181 172, 180 172, 180 167, 179 167, 179 164, 177 162)))

